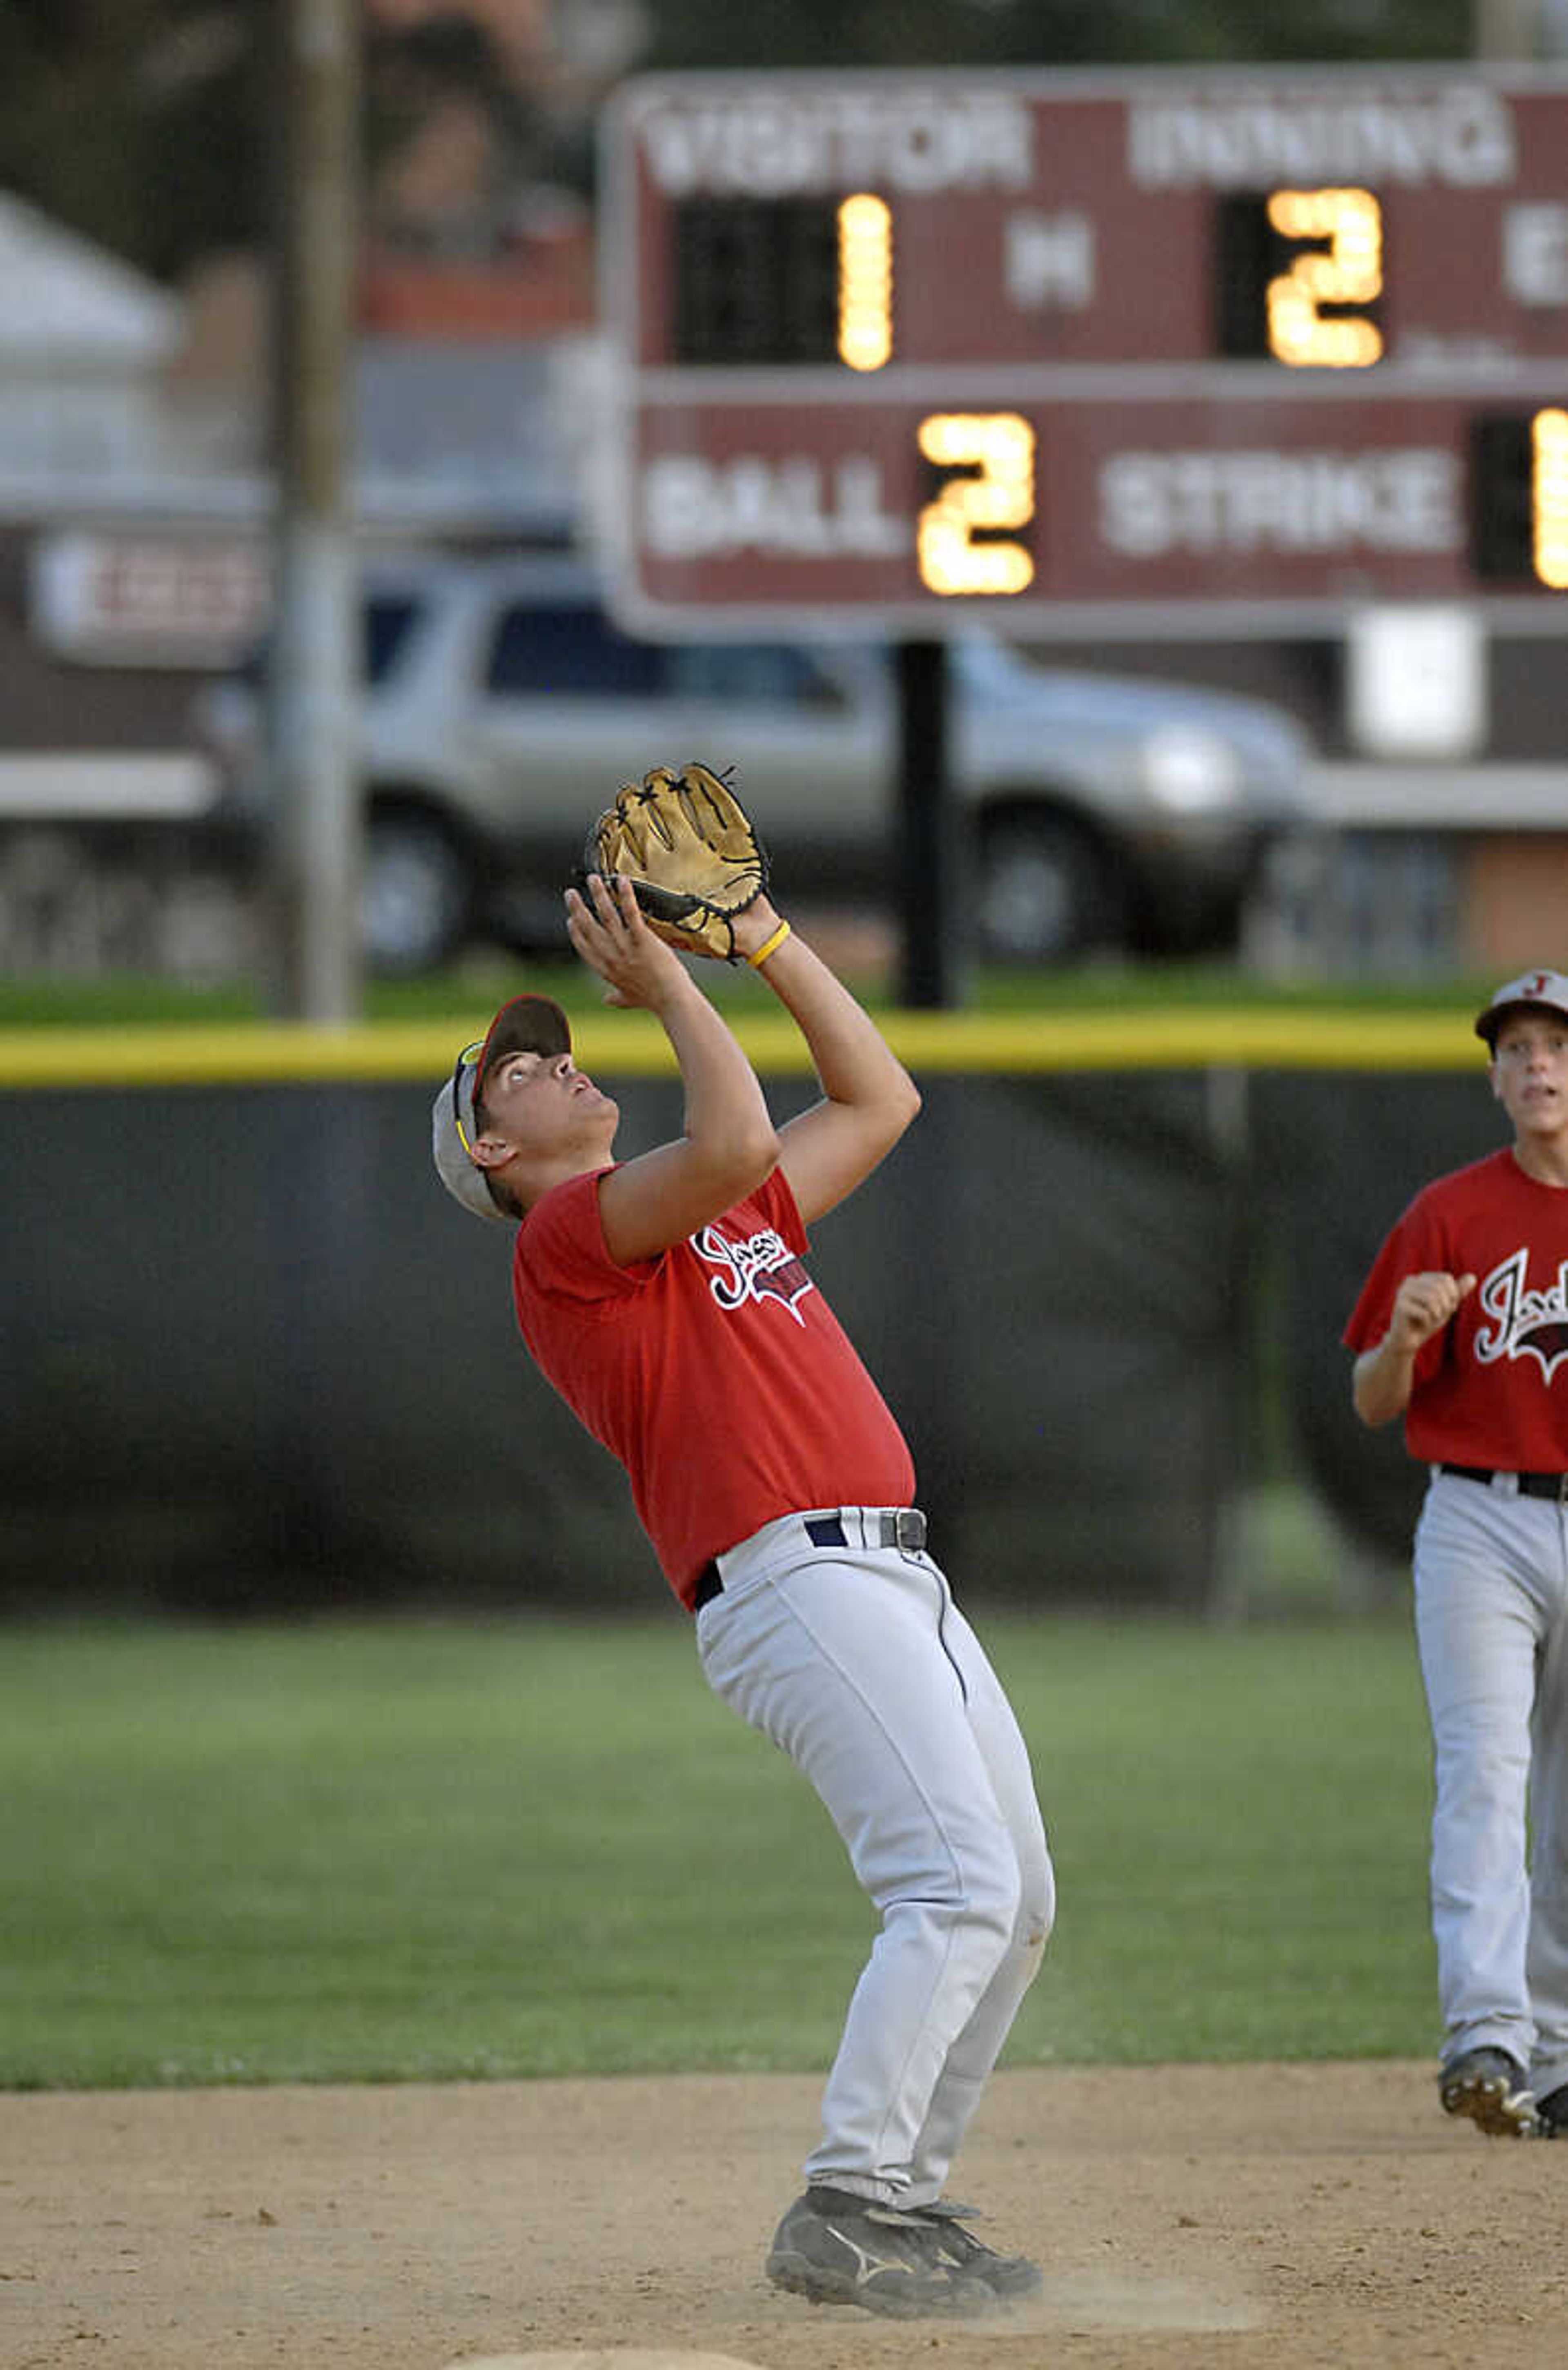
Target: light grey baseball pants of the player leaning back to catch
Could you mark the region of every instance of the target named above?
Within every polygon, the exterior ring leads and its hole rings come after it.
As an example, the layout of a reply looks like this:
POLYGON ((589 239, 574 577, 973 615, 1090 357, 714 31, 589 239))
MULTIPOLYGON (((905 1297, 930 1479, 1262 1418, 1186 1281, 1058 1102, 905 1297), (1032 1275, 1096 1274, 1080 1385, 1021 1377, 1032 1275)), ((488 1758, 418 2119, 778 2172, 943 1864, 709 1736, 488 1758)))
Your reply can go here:
POLYGON ((1056 1887, 1028 1749, 943 1571, 834 1507, 848 1545, 784 1514, 718 1557, 696 1616, 713 1692, 782 1747, 881 1913, 822 2097, 808 2180, 940 2197, 1040 1972, 1056 1887))

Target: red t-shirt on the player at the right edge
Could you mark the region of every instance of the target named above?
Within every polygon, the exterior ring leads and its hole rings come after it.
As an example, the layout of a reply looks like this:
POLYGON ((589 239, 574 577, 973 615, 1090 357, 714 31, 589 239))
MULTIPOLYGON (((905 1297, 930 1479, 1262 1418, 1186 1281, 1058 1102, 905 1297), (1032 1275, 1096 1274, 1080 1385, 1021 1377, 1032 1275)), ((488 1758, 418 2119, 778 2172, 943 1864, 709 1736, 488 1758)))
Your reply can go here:
POLYGON ((1376 1256, 1345 1325, 1376 1349, 1407 1275, 1473 1275, 1416 1353, 1405 1443, 1426 1465, 1568 1472, 1568 1190, 1528 1178, 1511 1149, 1438 1178, 1376 1256))

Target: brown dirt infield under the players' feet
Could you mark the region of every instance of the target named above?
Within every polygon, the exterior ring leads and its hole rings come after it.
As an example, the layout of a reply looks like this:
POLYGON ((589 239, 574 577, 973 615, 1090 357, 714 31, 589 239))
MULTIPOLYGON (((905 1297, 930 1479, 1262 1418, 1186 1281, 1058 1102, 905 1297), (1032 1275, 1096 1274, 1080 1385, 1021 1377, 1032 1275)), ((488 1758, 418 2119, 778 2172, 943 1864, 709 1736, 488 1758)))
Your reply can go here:
POLYGON ((1568 2147, 1447 2121, 1426 2064, 1000 2074, 955 2185, 985 2206, 983 2233, 1040 2259, 1045 2297, 983 2325, 767 2289, 817 2088, 0 2097, 0 2365, 1568 2358, 1568 2147))

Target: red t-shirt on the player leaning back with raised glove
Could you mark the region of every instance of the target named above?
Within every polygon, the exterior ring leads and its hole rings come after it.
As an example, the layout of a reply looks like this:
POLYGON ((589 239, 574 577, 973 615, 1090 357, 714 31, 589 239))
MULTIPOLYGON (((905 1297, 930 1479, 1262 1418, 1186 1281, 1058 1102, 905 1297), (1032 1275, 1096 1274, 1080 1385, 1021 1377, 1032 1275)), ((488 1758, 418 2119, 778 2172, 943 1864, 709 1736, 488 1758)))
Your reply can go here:
POLYGON ((632 1268, 604 1247, 599 1176, 528 1211, 512 1296, 540 1372, 625 1465, 675 1595, 777 1514, 910 1505, 902 1431, 801 1263, 782 1171, 632 1268))

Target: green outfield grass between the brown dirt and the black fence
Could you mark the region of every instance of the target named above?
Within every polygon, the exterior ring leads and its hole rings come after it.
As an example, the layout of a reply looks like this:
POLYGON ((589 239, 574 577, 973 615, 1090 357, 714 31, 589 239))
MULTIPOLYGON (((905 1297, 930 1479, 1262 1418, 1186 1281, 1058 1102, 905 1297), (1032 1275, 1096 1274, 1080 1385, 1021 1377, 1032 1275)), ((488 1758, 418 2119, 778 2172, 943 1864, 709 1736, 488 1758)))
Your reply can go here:
MULTIPOLYGON (((1397 1619, 981 1621, 1061 1917, 1011 2062, 1421 2055, 1397 1619)), ((0 2086, 824 2067, 872 1913, 635 1623, 14 1628, 0 2086)))

